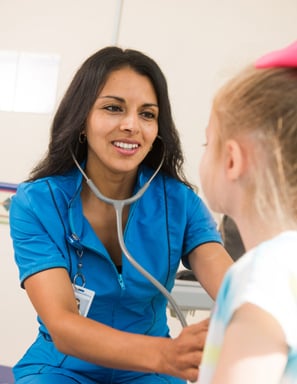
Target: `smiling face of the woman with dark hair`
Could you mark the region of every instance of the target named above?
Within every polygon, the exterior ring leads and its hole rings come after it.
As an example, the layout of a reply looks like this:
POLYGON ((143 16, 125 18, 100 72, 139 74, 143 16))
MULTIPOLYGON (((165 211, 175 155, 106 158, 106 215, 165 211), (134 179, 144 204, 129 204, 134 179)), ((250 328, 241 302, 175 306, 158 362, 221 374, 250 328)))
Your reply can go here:
POLYGON ((129 67, 112 72, 87 119, 87 169, 135 171, 157 137, 158 113, 148 77, 129 67))

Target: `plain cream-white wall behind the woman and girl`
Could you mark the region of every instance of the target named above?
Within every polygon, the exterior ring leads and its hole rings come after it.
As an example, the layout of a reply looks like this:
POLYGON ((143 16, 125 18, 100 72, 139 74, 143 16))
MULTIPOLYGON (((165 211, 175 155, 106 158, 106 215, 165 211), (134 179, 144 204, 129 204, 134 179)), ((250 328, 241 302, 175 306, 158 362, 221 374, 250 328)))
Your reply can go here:
MULTIPOLYGON (((60 55, 57 102, 90 54, 115 42, 116 0, 0 0, 0 51, 60 55)), ((212 96, 239 67, 297 37, 296 0, 124 0, 117 43, 162 67, 186 154, 198 164, 212 96)), ((1 84, 0 84, 1 87, 1 84)), ((18 183, 44 153, 52 115, 0 112, 0 181, 18 183)), ((0 363, 14 364, 35 337, 19 288, 8 225, 0 224, 0 363)), ((195 319, 195 318, 194 318, 195 319)), ((175 321, 172 321, 176 332, 175 321)))

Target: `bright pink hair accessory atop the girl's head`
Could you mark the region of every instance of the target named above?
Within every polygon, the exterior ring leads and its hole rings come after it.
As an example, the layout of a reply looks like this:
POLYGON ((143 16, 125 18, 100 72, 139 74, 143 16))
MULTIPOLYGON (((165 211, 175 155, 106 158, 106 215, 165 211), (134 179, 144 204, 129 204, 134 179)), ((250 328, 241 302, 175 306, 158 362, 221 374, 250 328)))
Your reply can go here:
POLYGON ((296 67, 297 41, 289 46, 268 53, 255 62, 256 68, 296 67))

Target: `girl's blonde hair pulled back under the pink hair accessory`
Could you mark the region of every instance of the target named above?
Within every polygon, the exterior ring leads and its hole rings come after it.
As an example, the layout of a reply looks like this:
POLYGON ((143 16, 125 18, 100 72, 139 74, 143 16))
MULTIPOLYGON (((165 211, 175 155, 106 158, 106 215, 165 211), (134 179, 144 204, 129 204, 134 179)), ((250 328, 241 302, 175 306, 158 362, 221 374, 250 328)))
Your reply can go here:
POLYGON ((246 68, 215 97, 218 146, 248 137, 246 185, 261 216, 283 227, 297 224, 297 69, 246 68))

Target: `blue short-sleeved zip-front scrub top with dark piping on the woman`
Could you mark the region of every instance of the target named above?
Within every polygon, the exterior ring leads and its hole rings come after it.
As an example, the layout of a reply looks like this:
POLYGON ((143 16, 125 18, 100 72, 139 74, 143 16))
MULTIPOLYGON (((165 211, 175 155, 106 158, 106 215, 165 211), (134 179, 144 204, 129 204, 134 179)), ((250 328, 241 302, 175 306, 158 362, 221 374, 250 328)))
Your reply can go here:
MULTIPOLYGON (((152 173, 141 166, 134 192, 152 173)), ((85 287, 95 291, 88 317, 127 332, 168 337, 167 299, 124 256, 118 272, 83 215, 81 187, 77 169, 19 185, 11 202, 10 226, 21 284, 49 268, 67 269, 72 281, 82 272, 85 287)), ((221 237, 200 197, 159 173, 131 205, 124 241, 133 258, 171 291, 180 261, 188 266, 189 252, 203 243, 221 242, 221 237)), ((17 377, 59 366, 98 378, 101 367, 58 352, 38 321, 39 336, 15 368, 17 377)))

